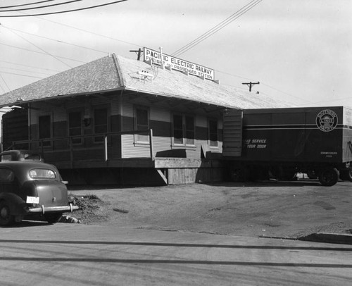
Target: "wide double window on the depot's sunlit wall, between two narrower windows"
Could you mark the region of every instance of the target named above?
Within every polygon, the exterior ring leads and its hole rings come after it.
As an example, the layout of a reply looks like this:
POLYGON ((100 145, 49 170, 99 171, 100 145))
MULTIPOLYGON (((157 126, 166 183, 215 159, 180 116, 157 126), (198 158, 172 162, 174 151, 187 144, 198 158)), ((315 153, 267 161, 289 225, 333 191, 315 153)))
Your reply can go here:
POLYGON ((194 117, 174 114, 173 137, 174 144, 194 146, 194 117))

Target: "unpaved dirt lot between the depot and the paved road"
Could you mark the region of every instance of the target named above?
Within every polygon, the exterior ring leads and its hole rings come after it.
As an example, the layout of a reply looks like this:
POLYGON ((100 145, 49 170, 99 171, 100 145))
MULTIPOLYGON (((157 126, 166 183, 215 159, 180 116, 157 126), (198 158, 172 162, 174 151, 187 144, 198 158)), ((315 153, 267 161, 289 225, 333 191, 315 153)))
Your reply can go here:
POLYGON ((220 235, 301 237, 352 233, 352 183, 318 181, 70 188, 86 224, 208 232, 220 235))

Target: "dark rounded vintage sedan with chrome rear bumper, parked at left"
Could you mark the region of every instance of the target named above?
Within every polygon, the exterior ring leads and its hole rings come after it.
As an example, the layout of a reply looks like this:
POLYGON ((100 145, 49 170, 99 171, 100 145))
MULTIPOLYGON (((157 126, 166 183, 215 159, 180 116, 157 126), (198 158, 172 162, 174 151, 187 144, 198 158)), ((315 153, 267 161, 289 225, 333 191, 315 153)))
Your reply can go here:
POLYGON ((56 223, 62 213, 78 209, 58 169, 36 161, 0 162, 0 225, 23 219, 56 223))

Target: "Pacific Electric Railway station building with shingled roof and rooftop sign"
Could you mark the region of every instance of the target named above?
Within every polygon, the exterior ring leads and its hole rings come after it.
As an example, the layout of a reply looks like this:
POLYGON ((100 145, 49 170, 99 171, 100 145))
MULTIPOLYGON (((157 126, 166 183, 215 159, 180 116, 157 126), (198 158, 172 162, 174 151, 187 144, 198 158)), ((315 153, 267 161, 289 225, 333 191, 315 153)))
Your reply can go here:
POLYGON ((287 107, 215 79, 215 70, 144 48, 111 54, 0 96, 3 149, 30 149, 71 183, 214 182, 225 109, 287 107), (182 63, 182 64, 180 64, 182 63))

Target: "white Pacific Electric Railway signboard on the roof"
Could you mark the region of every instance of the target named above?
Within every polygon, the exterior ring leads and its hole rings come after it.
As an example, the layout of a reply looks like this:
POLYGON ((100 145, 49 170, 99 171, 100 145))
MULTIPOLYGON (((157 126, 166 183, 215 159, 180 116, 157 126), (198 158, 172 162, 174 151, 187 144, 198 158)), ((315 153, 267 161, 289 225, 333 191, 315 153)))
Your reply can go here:
POLYGON ((158 66, 161 66, 161 64, 163 66, 170 66, 172 70, 187 71, 190 75, 204 77, 206 80, 215 80, 214 70, 211 68, 206 68, 205 66, 184 61, 181 58, 175 58, 167 54, 163 54, 163 58, 161 59, 160 51, 154 51, 153 49, 144 48, 144 61, 151 61, 158 66))

